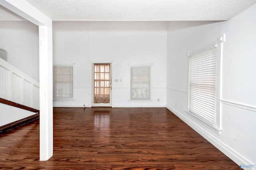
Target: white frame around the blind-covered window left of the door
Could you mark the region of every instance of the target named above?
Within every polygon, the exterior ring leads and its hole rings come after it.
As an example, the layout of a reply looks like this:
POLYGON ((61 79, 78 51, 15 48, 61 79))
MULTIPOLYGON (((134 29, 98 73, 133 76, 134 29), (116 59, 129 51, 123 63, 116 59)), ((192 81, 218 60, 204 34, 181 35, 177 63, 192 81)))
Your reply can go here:
MULTIPOLYGON (((70 97, 70 98, 66 98, 66 97, 58 97, 58 98, 54 98, 54 71, 53 71, 53 75, 52 75, 52 79, 53 79, 53 82, 52 82, 52 85, 53 85, 53 87, 52 87, 52 92, 53 92, 53 94, 52 94, 52 98, 53 98, 53 100, 75 100, 76 98, 75 98, 75 66, 76 66, 76 64, 74 63, 74 64, 53 64, 53 67, 54 66, 57 66, 57 67, 72 67, 73 68, 73 87, 72 87, 72 97, 70 97)), ((54 69, 54 68, 53 68, 54 69)))

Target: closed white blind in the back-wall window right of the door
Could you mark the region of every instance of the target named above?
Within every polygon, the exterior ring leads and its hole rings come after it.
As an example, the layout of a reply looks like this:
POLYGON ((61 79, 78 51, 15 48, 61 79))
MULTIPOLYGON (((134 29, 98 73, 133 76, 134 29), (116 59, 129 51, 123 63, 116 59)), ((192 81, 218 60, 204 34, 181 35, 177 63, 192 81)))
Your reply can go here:
POLYGON ((130 99, 150 100, 150 66, 130 66, 130 99))

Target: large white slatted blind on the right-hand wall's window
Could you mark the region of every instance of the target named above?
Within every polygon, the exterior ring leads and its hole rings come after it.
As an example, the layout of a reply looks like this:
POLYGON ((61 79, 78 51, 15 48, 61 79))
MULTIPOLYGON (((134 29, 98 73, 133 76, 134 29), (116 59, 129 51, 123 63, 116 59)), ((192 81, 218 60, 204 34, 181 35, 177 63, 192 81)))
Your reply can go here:
POLYGON ((190 57, 188 110, 214 126, 216 124, 217 48, 190 57))

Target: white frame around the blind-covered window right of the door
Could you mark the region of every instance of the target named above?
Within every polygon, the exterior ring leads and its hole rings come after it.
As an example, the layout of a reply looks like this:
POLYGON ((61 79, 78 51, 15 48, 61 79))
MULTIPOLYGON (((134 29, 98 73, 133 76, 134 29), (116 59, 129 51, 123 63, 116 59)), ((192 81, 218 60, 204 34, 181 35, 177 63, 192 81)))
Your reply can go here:
POLYGON ((128 79, 129 79, 129 87, 128 87, 128 93, 129 93, 129 101, 150 101, 152 100, 152 66, 153 64, 128 64, 128 67, 129 67, 129 73, 128 73, 128 79), (131 67, 150 67, 150 98, 149 99, 145 99, 145 98, 142 98, 142 99, 133 99, 131 98, 131 67))

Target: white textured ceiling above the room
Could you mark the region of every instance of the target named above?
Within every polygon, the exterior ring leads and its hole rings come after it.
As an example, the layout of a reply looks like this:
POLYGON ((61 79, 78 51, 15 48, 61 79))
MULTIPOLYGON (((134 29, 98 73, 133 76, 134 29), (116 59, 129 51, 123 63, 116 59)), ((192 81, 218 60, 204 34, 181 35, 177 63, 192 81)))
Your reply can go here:
MULTIPOLYGON (((229 20, 256 0, 26 0, 60 20, 229 20)), ((0 11, 3 9, 0 8, 0 11)), ((5 12, 4 12, 5 13, 5 12)), ((0 12, 0 14, 2 14, 0 12)), ((3 15, 3 14, 2 14, 3 15)), ((13 16, 12 16, 13 17, 13 16)), ((16 16, 18 17, 18 16, 16 16)), ((2 19, 2 17, 0 18, 2 19)))

